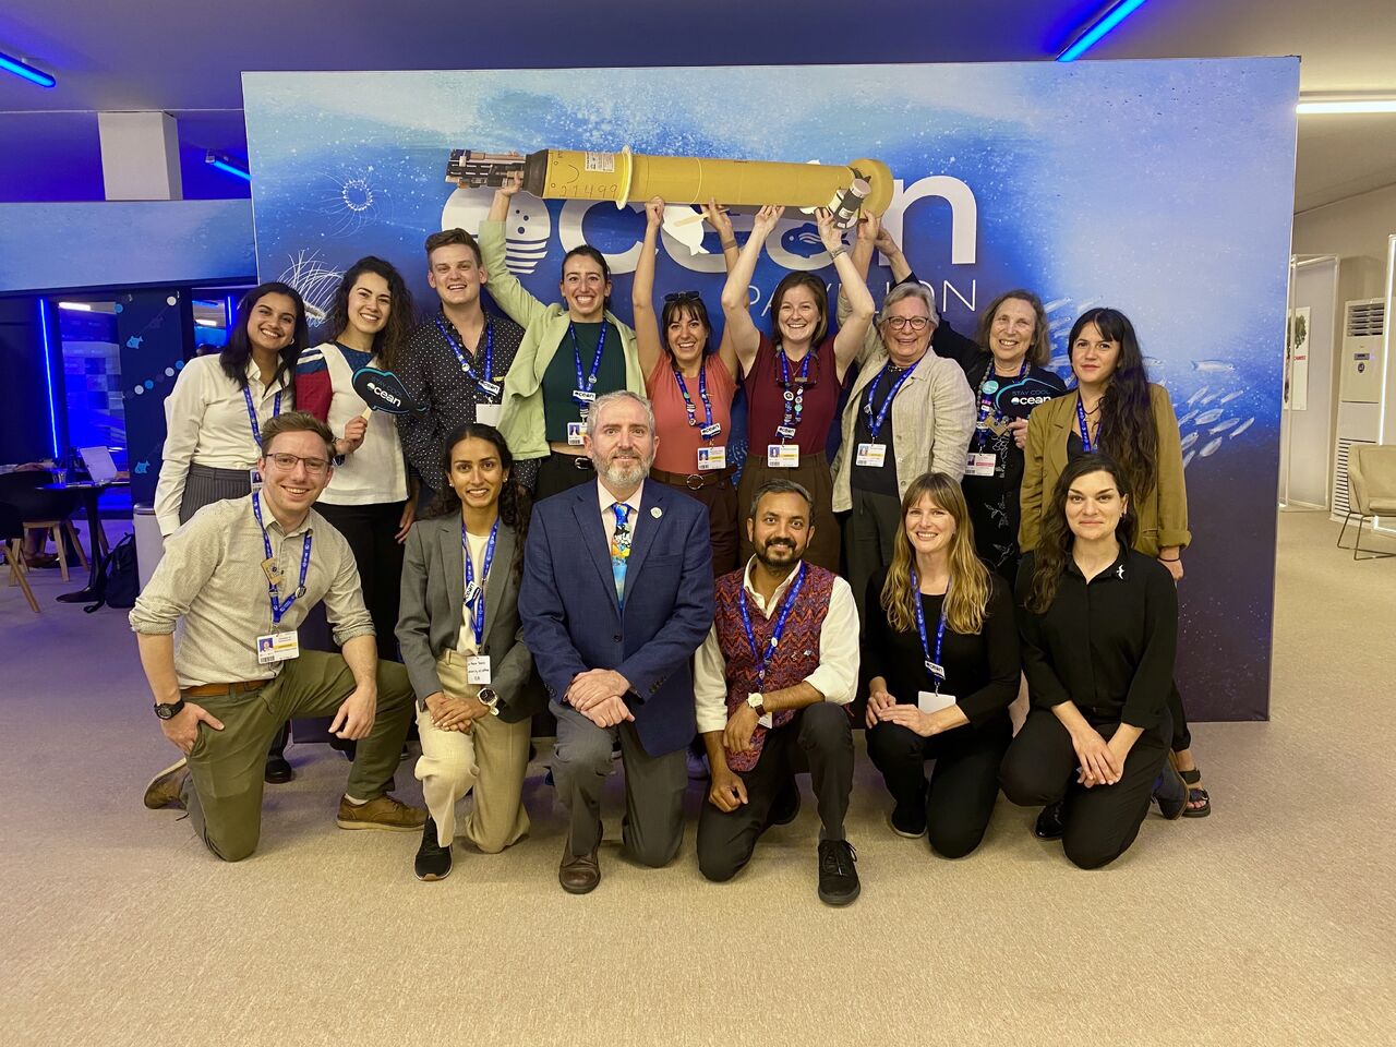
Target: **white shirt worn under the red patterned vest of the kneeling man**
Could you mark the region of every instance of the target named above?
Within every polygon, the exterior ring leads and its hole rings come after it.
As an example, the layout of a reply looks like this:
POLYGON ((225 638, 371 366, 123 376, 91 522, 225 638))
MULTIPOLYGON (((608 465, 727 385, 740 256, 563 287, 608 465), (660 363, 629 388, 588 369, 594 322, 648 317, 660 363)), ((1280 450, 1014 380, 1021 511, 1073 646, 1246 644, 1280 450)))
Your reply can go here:
MULTIPOLYGON (((780 609, 786 591, 794 584, 799 568, 776 586, 769 600, 761 597, 751 585, 751 567, 755 557, 747 561, 741 586, 747 591, 754 614, 769 618, 780 609)), ((853 603, 853 589, 843 578, 833 579, 829 593, 829 610, 819 628, 819 664, 804 678, 824 701, 847 705, 859 690, 859 609, 853 603)), ((722 730, 727 726, 727 663, 718 642, 716 623, 708 630, 708 638, 698 648, 694 659, 694 705, 698 712, 698 733, 722 730)))

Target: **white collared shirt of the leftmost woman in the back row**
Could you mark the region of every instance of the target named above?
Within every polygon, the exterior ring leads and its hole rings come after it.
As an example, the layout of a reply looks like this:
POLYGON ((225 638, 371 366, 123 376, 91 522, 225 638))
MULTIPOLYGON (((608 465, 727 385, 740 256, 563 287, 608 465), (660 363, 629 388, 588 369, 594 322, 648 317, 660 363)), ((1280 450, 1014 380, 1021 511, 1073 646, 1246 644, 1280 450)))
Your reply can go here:
MULTIPOLYGON (((283 412, 295 408, 290 396, 292 371, 279 383, 264 385, 255 360, 247 360, 247 391, 253 395, 258 427, 271 419, 281 396, 283 412)), ((261 456, 247 417, 247 399, 236 381, 223 373, 218 353, 195 356, 180 371, 165 401, 165 450, 161 479, 155 487, 155 519, 162 535, 179 528, 179 507, 190 463, 212 469, 251 469, 261 456)))

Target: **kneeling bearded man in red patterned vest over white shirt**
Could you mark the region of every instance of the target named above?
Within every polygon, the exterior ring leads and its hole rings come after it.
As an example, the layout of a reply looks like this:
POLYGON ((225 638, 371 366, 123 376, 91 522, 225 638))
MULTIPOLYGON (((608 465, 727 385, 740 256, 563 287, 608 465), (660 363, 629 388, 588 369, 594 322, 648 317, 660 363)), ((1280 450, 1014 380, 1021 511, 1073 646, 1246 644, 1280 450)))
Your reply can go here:
POLYGON ((755 556, 718 579, 708 639, 698 649, 694 699, 712 765, 698 817, 698 867, 734 877, 772 825, 794 821, 808 771, 818 800, 819 899, 859 896, 857 856, 843 838, 853 789, 849 702, 859 680, 859 616, 849 584, 804 563, 814 500, 771 480, 751 500, 755 556))

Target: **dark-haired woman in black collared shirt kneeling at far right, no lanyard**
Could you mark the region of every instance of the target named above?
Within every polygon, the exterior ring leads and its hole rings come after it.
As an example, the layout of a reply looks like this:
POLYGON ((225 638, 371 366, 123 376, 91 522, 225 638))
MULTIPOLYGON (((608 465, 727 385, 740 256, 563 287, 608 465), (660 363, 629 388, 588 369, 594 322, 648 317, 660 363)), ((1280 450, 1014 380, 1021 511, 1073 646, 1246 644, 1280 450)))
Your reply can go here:
POLYGON ((1004 758, 1004 794, 1062 803, 1062 846, 1081 868, 1129 849, 1150 796, 1170 819, 1188 796, 1167 764, 1178 593, 1160 563, 1131 549, 1128 512, 1118 465, 1074 459, 1018 572, 1032 711, 1004 758))

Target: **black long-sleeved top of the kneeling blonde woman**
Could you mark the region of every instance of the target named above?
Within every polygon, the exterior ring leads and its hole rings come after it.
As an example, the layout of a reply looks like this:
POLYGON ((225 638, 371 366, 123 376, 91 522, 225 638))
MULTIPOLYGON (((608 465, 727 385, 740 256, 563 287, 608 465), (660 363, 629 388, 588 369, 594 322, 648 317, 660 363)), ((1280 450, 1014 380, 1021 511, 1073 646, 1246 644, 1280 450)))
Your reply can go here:
MULTIPOLYGON (((1022 662, 1018 656, 1018 628, 1013 623, 1013 602, 1008 582, 990 574, 988 610, 984 627, 977 635, 960 635, 945 627, 941 666, 945 669, 942 694, 955 695, 972 726, 981 727, 1008 715, 1008 706, 1018 697, 1018 677, 1022 662)), ((867 628, 863 638, 863 676, 886 680, 888 694, 898 705, 916 705, 917 691, 934 691, 935 677, 926 669, 921 637, 912 624, 909 632, 896 632, 882 609, 882 585, 886 568, 868 581, 864 614, 867 628)), ((926 614, 926 639, 935 655, 935 627, 941 620, 944 596, 921 595, 926 614)))

